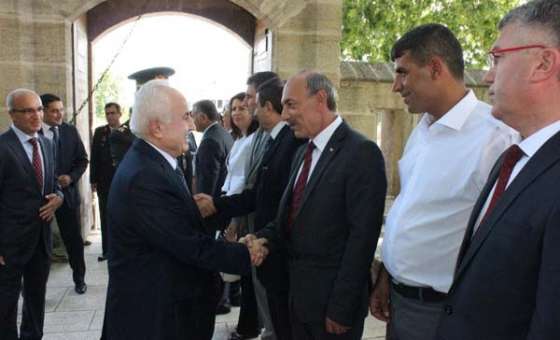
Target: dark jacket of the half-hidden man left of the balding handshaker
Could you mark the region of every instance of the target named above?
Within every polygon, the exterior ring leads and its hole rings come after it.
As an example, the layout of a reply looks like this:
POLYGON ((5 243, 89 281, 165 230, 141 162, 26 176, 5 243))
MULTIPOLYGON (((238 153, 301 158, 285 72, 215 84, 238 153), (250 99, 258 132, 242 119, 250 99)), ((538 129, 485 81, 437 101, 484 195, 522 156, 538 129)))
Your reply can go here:
MULTIPOLYGON (((273 222, 280 199, 290 179, 290 168, 297 148, 303 143, 284 126, 266 151, 257 173, 255 186, 240 194, 214 199, 222 218, 247 215, 255 211, 255 231, 273 222)), ((285 292, 289 288, 287 255, 281 249, 271 254, 257 274, 267 291, 285 292)))

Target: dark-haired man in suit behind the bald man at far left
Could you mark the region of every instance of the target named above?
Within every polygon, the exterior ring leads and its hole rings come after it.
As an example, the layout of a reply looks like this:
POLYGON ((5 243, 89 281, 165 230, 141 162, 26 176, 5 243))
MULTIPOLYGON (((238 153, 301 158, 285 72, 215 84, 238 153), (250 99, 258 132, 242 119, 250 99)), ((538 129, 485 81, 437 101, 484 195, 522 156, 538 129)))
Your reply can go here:
POLYGON ((88 159, 82 139, 73 125, 63 121, 64 104, 53 94, 43 94, 43 135, 54 146, 58 184, 64 193, 64 202, 56 211, 56 222, 68 252, 74 290, 84 294, 87 285, 84 280, 86 264, 84 261, 84 240, 80 223, 80 192, 78 181, 86 171, 88 159))

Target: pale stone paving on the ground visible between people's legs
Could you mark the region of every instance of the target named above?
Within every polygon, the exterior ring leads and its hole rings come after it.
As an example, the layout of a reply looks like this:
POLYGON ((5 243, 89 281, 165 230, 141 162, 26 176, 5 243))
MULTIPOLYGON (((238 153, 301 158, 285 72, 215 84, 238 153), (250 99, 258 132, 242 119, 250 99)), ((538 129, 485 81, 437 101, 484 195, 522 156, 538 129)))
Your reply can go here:
MULTIPOLYGON (((74 292, 72 273, 68 264, 53 263, 47 289, 45 340, 99 340, 103 324, 107 263, 97 262, 101 245, 98 234, 89 237, 86 247, 86 282, 84 295, 74 292)), ((19 311, 21 313, 21 301, 19 311)), ((239 308, 218 316, 214 340, 225 340, 237 323, 239 308)), ((371 316, 366 321, 364 339, 383 339, 384 324, 371 316)))

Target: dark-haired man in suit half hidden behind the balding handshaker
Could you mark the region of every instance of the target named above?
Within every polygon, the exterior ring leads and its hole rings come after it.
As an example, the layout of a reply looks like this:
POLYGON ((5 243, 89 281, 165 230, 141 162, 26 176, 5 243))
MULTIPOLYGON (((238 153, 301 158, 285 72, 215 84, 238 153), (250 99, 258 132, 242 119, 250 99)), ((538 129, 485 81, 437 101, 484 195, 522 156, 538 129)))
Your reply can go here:
MULTIPOLYGON (((217 210, 221 218, 229 219, 254 211, 254 231, 259 231, 274 221, 282 193, 288 184, 292 158, 304 142, 296 139, 287 123, 282 121, 282 89, 282 81, 272 79, 262 84, 257 91, 256 116, 261 128, 270 137, 265 146, 255 185, 240 194, 213 200, 207 195, 197 195, 195 198, 203 212, 217 210)), ((291 339, 287 254, 282 251, 271 254, 257 269, 257 275, 266 288, 276 338, 291 339)))

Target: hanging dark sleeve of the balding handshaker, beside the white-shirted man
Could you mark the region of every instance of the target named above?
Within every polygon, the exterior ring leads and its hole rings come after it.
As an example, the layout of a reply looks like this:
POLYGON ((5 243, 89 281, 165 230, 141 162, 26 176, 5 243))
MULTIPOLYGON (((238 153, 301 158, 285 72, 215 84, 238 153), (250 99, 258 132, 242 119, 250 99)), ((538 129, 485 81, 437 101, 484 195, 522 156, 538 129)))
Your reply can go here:
POLYGON ((327 317, 346 326, 355 320, 356 306, 363 304, 387 192, 383 156, 375 143, 362 142, 349 159, 355 164, 345 173, 349 235, 327 306, 327 317))

